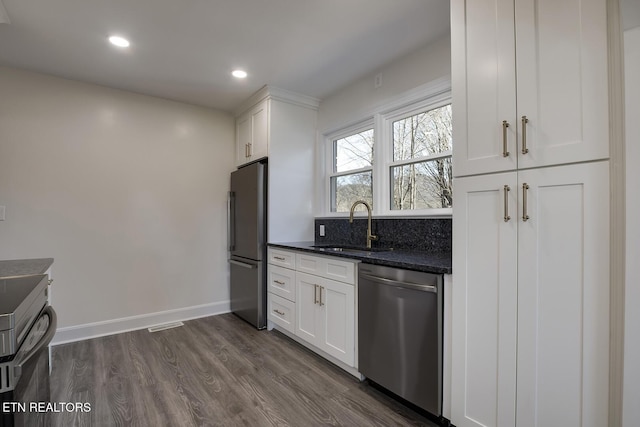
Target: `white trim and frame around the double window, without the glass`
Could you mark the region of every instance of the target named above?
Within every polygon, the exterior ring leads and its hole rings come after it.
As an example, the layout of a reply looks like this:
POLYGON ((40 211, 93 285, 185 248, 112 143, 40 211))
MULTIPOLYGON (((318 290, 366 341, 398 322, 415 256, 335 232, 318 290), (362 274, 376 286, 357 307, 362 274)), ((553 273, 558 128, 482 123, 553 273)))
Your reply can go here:
MULTIPOLYGON (((321 214, 325 218, 343 218, 348 217, 349 212, 331 212, 331 176, 339 176, 345 173, 333 172, 333 141, 352 135, 354 133, 371 129, 374 131, 374 150, 373 150, 373 215, 385 218, 410 218, 410 217, 429 217, 429 218, 450 218, 452 208, 444 209, 412 209, 412 210, 392 210, 391 209, 391 190, 390 190, 390 167, 393 165, 416 163, 424 160, 434 160, 436 158, 447 157, 448 154, 438 153, 435 156, 427 156, 422 158, 411 159, 410 161, 393 161, 393 144, 390 143, 391 124, 394 120, 409 116, 412 112, 415 114, 422 111, 438 108, 451 103, 451 79, 441 78, 433 82, 418 86, 412 90, 404 92, 387 102, 378 105, 359 115, 346 118, 341 125, 332 126, 331 129, 321 132, 319 142, 323 148, 319 150, 322 155, 320 157, 320 167, 318 179, 323 185, 318 186, 322 189, 321 214), (382 142, 385 138, 387 140, 382 142)), ((454 142, 455 143, 455 142, 454 142)), ((370 170, 364 168, 363 170, 370 170)), ((349 171, 349 174, 353 173, 349 171)), ((318 200, 318 199, 316 199, 318 200)), ((366 212, 356 211, 357 216, 365 216, 366 212)))

